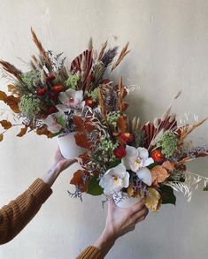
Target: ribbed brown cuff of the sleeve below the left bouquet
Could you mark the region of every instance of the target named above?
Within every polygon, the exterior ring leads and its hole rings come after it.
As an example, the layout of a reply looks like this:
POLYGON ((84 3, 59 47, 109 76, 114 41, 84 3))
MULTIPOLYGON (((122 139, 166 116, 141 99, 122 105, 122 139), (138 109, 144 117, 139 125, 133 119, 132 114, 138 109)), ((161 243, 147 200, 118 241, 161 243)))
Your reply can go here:
POLYGON ((44 203, 52 194, 49 185, 44 183, 42 179, 35 179, 35 182, 29 187, 30 191, 34 194, 38 203, 44 203))

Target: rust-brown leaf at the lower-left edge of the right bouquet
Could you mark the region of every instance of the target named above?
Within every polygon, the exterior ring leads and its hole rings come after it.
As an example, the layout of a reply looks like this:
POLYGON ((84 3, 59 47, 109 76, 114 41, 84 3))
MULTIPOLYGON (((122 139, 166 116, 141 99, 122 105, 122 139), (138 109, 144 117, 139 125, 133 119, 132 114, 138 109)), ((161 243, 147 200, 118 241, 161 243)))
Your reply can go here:
POLYGON ((71 179, 70 184, 79 187, 82 193, 85 193, 88 189, 89 181, 84 180, 83 176, 89 176, 89 171, 77 170, 73 173, 73 179, 71 179))

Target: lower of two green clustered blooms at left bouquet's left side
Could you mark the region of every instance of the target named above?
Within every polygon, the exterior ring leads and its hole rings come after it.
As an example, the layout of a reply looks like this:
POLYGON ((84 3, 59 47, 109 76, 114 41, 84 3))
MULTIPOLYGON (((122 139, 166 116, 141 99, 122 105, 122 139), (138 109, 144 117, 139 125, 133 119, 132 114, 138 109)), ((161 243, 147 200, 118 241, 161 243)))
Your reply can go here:
POLYGON ((27 118, 35 118, 41 111, 42 102, 33 94, 23 95, 19 103, 19 110, 27 118))

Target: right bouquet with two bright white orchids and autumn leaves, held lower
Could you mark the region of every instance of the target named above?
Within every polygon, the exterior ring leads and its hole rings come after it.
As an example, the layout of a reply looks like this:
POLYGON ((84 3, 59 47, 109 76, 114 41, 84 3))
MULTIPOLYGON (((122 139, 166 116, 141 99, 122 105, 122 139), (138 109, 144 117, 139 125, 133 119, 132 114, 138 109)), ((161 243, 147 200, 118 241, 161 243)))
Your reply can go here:
MULTIPOLYGON (((178 126, 170 106, 161 118, 142 125, 139 118, 130 119, 124 113, 129 90, 122 80, 118 86, 111 85, 110 93, 116 97, 105 90, 99 88, 99 110, 73 118, 77 144, 87 151, 80 156, 82 170, 75 171, 71 180, 75 186, 75 192, 69 192, 72 197, 81 198, 85 192, 105 194, 120 207, 143 198, 150 210, 158 211, 161 204, 175 204, 173 191, 190 201, 200 182, 207 190, 208 178, 186 169, 189 161, 208 156, 208 146, 193 147, 186 141, 207 118, 178 126)), ((179 95, 181 92, 174 99, 179 95)))

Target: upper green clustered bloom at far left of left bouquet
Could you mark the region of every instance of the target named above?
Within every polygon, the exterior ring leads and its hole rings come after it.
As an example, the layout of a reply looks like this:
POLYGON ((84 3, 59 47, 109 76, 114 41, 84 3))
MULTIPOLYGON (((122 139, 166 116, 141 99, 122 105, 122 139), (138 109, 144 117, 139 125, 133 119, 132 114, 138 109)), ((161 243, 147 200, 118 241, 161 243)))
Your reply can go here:
POLYGON ((31 90, 42 84, 41 72, 38 70, 31 70, 29 72, 24 72, 21 75, 21 79, 27 85, 27 88, 31 90))

